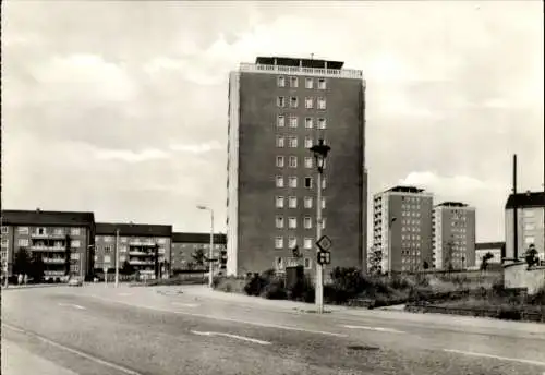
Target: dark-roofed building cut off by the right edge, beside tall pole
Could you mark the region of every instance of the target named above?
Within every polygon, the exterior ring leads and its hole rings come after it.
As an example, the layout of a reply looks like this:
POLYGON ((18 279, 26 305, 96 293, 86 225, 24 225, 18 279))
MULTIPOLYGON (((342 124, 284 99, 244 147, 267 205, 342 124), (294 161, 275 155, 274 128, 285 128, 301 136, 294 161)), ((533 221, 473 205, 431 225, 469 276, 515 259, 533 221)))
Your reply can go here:
POLYGON ((544 214, 544 192, 509 195, 506 203, 506 259, 524 259, 524 253, 531 244, 535 245, 540 259, 545 259, 544 214))

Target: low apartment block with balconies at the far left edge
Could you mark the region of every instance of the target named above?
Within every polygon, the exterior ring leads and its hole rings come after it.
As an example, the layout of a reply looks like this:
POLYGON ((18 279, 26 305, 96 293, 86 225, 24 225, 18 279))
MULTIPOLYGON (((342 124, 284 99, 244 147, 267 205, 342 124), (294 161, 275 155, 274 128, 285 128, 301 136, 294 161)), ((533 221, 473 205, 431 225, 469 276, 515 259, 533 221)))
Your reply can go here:
POLYGON ((93 213, 3 210, 1 230, 2 270, 8 275, 21 250, 41 258, 46 279, 89 277, 93 271, 88 252, 95 241, 93 213))

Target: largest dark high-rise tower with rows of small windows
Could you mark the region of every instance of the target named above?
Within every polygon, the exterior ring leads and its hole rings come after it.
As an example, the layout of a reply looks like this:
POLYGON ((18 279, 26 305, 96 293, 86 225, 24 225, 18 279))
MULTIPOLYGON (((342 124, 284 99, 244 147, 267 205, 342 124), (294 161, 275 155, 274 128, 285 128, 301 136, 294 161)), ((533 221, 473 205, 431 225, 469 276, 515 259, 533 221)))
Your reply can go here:
POLYGON ((316 205, 331 266, 366 261, 365 81, 343 62, 258 57, 229 78, 227 273, 282 265, 298 247, 316 259, 316 205), (331 147, 316 202, 308 150, 331 147))

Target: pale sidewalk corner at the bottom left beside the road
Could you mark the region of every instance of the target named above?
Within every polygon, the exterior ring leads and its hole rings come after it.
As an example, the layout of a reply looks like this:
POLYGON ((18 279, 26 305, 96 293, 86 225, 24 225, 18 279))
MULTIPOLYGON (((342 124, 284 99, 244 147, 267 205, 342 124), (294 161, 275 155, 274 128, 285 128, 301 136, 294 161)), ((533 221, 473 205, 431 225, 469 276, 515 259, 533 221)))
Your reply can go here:
POLYGON ((5 339, 2 339, 1 370, 3 375, 77 375, 5 339))

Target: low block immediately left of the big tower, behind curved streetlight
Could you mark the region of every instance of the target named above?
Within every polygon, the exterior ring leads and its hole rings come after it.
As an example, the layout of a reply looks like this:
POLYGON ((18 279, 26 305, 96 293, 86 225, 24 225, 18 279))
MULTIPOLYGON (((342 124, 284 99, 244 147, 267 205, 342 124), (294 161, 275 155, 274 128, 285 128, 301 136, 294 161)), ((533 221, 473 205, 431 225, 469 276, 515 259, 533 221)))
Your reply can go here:
MULTIPOLYGON (((214 234, 214 251, 213 257, 220 259, 225 255, 227 245, 227 235, 217 233, 214 234)), ((206 264, 197 265, 193 255, 203 250, 206 257, 208 257, 210 250, 210 234, 209 233, 172 233, 172 273, 185 269, 198 269, 199 267, 207 267, 206 264)), ((220 262, 215 263, 219 265, 220 262)))

